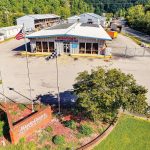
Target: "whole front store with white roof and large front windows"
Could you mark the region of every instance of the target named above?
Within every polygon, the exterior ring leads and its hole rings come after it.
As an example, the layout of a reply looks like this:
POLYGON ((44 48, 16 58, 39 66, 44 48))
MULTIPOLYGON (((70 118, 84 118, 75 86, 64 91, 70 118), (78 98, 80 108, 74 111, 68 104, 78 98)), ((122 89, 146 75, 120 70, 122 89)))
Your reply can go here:
POLYGON ((30 39, 32 52, 53 52, 59 54, 105 55, 105 41, 111 37, 101 25, 59 24, 26 36, 30 39))

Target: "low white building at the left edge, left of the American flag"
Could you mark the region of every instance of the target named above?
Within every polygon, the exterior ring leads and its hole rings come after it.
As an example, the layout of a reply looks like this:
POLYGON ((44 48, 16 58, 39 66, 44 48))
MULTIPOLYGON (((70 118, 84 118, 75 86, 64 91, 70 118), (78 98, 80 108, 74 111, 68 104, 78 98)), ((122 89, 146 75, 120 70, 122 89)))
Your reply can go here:
POLYGON ((0 28, 0 33, 4 35, 4 39, 15 37, 19 31, 22 29, 22 26, 10 26, 0 28))

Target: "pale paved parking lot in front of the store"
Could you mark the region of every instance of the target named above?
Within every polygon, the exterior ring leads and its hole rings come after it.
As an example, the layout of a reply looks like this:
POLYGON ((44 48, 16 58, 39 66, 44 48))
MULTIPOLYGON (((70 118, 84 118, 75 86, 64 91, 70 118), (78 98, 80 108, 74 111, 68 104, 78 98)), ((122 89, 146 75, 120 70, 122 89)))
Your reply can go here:
MULTIPOLYGON (((15 88, 16 91, 29 97, 29 87, 26 69, 26 59, 15 56, 16 47, 23 44, 23 40, 11 40, 0 44, 0 70, 2 71, 5 94, 15 101, 27 102, 27 99, 19 96, 13 91, 9 91, 8 87, 15 88)), ((120 45, 129 44, 130 47, 138 46, 132 40, 120 35, 118 39, 109 43, 118 51, 120 45), (116 43, 117 42, 117 43, 116 43)), ((58 59, 59 65, 59 85, 61 94, 67 96, 67 91, 72 89, 77 74, 84 70, 91 70, 97 66, 105 66, 109 68, 120 68, 126 73, 131 73, 137 79, 139 84, 149 89, 148 100, 150 103, 150 58, 149 57, 133 57, 123 58, 114 57, 110 62, 102 59, 79 58, 74 60, 69 56, 61 56, 58 59)), ((57 92, 56 88, 56 67, 55 60, 45 61, 44 58, 29 58, 32 97, 38 95, 49 95, 57 92)), ((2 92, 2 89, 0 88, 2 92)), ((62 97, 65 100, 66 97, 62 97)), ((69 97, 70 98, 70 97, 69 97)))

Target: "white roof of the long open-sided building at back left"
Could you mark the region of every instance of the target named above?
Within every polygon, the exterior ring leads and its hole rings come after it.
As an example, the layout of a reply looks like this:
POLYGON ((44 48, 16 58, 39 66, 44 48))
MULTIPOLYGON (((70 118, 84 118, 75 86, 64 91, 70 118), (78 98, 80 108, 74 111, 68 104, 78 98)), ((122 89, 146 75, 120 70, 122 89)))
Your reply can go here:
POLYGON ((33 14, 33 15, 25 15, 25 16, 22 16, 18 19, 24 19, 25 17, 30 17, 30 18, 33 18, 34 20, 49 19, 49 18, 60 18, 60 16, 55 15, 55 14, 33 14))

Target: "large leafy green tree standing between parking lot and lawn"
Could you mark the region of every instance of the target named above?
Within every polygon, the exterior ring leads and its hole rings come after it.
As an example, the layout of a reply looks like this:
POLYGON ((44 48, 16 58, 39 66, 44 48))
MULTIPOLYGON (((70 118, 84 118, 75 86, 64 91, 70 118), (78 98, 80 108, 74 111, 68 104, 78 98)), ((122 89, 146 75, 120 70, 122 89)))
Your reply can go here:
POLYGON ((92 120, 110 121, 120 108, 137 113, 147 109, 145 87, 139 86, 132 75, 117 69, 81 72, 73 87, 77 108, 92 120))

